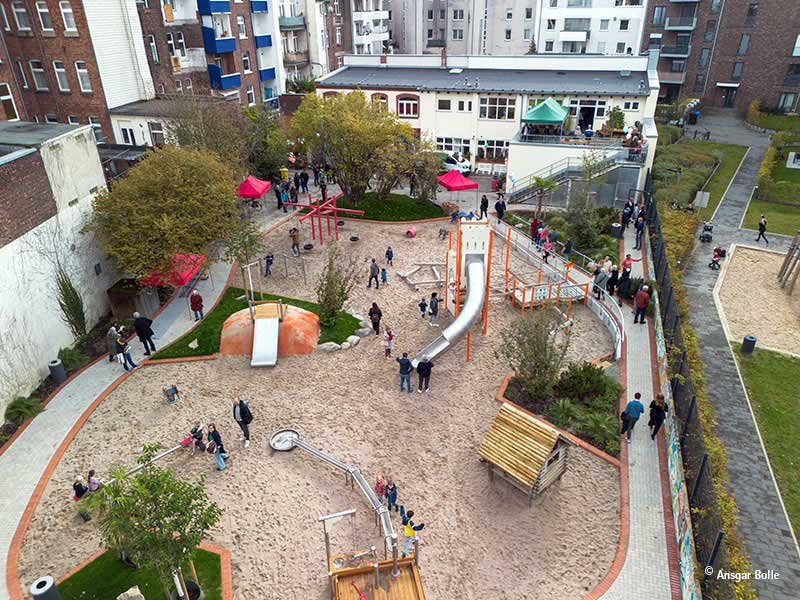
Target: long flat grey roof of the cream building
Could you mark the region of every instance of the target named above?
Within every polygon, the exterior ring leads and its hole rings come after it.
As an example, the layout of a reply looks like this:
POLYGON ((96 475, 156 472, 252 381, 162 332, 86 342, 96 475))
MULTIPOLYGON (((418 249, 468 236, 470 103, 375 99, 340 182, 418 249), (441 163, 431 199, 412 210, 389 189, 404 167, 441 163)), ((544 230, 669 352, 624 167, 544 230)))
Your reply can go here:
POLYGON ((321 88, 408 89, 445 92, 516 94, 592 94, 648 96, 647 73, 618 71, 552 71, 522 69, 358 67, 346 66, 317 82, 321 88), (640 87, 640 82, 644 86, 640 87))

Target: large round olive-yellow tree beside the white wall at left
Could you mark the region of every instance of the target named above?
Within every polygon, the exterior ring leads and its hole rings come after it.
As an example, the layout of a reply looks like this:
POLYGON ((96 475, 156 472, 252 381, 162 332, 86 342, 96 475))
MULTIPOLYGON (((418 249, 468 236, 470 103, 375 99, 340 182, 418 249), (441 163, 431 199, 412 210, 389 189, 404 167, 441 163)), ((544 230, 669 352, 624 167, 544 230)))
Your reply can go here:
POLYGON ((241 227, 235 186, 215 155, 165 146, 97 195, 84 231, 95 232, 120 272, 169 271, 175 254, 205 254, 241 227))

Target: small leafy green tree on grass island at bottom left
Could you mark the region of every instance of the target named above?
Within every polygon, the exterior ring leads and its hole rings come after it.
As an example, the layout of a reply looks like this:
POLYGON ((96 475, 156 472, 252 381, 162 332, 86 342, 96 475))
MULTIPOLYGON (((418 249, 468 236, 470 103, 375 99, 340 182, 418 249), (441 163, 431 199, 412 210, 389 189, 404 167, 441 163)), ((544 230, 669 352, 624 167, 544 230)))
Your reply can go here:
POLYGON ((99 513, 103 544, 124 550, 142 568, 155 569, 169 598, 170 574, 192 560, 208 530, 219 523, 222 509, 206 495, 204 475, 182 481, 171 469, 150 464, 159 449, 159 444, 146 444, 138 459, 142 469, 132 476, 122 469, 115 472, 112 481, 91 494, 90 504, 99 513))

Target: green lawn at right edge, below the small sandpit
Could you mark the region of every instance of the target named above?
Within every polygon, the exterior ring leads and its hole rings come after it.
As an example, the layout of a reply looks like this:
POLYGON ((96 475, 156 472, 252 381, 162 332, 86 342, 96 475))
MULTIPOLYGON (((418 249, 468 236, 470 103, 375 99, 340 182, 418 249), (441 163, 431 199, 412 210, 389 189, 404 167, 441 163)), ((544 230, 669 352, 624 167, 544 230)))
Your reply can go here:
POLYGON ((786 511, 800 535, 800 359, 758 348, 747 356, 739 344, 735 349, 786 511))

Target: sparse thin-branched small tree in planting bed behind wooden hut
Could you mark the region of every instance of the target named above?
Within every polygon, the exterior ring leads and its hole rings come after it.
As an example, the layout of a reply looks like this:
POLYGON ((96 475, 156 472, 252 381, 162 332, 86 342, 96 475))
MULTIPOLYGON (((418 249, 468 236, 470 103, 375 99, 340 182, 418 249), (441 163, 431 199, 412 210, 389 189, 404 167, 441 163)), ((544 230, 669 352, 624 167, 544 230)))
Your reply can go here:
POLYGON ((553 333, 560 322, 555 310, 535 311, 516 319, 501 333, 497 356, 513 369, 532 402, 551 399, 566 358, 569 329, 553 333))

